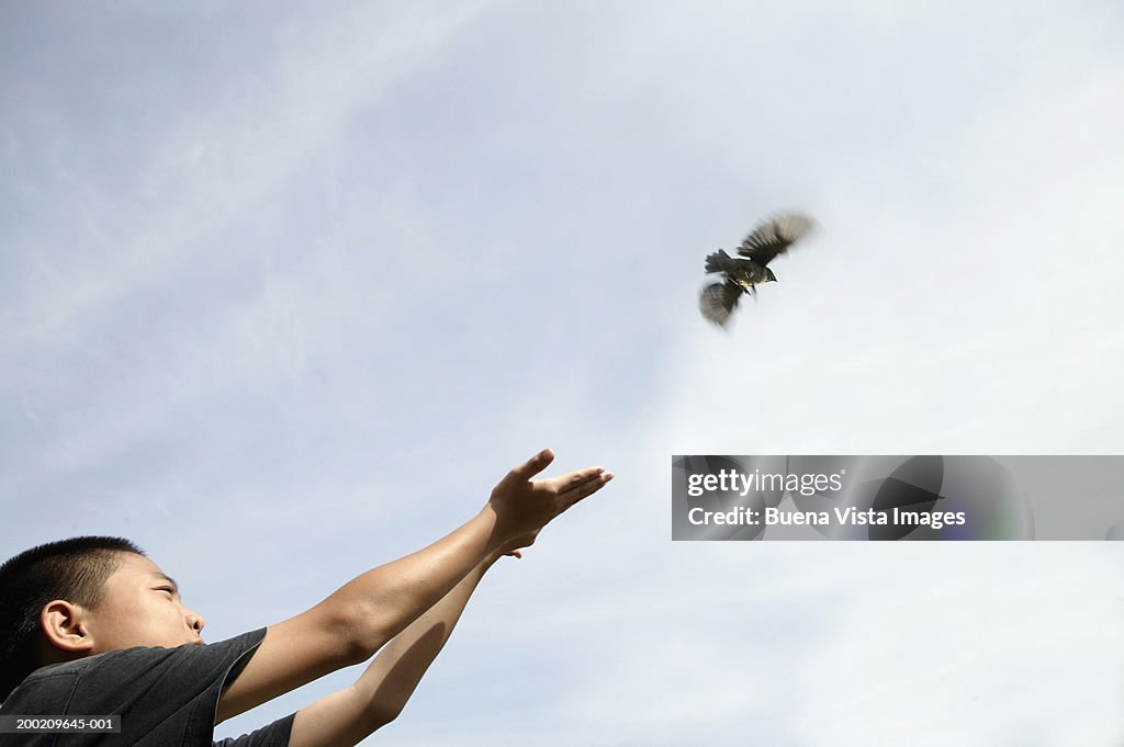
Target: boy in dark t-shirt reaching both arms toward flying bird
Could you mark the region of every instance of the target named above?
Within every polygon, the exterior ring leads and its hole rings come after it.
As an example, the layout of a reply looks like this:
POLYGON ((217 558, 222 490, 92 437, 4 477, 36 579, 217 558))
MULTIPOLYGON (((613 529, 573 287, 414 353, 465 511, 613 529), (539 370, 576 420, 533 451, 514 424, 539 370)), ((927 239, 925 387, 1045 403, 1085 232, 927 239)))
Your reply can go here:
POLYGON ((357 744, 405 705, 491 564, 518 557, 613 479, 589 467, 532 480, 553 459, 544 449, 509 472, 480 513, 433 545, 294 618, 211 645, 175 582, 127 540, 78 538, 11 558, 0 567, 0 716, 119 714, 120 732, 9 732, 0 745, 209 747, 215 723, 381 648, 352 686, 223 743, 357 744))

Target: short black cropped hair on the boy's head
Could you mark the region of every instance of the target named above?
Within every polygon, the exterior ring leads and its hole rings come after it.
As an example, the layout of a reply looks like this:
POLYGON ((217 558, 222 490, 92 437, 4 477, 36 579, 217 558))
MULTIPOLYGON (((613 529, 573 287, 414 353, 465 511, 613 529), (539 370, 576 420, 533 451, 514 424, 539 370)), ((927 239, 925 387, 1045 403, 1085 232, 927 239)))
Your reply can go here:
POLYGON ((39 662, 39 613, 55 599, 97 607, 116 553, 144 550, 120 537, 73 537, 25 550, 0 565, 0 702, 39 662))

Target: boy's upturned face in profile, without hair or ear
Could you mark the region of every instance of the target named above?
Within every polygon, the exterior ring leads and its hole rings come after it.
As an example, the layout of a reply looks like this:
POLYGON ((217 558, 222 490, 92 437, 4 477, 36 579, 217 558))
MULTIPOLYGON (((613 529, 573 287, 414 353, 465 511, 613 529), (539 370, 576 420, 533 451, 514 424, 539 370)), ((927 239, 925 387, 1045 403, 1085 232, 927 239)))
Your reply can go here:
POLYGON ((175 582, 155 563, 119 553, 117 570, 106 580, 101 602, 87 610, 92 654, 132 648, 202 644, 203 619, 185 608, 175 582))

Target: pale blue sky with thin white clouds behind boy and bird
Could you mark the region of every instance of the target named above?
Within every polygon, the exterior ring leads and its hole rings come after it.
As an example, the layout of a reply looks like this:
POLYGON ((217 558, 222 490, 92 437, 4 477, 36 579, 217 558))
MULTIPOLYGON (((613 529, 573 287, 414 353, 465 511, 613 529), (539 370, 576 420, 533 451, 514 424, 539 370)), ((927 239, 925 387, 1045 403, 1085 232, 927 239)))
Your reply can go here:
POLYGON ((369 744, 1124 738, 1118 544, 669 521, 672 454, 1124 452, 1117 3, 0 16, 0 555, 132 537, 217 639, 552 446, 617 480, 369 744), (703 257, 790 207, 713 329, 703 257))

